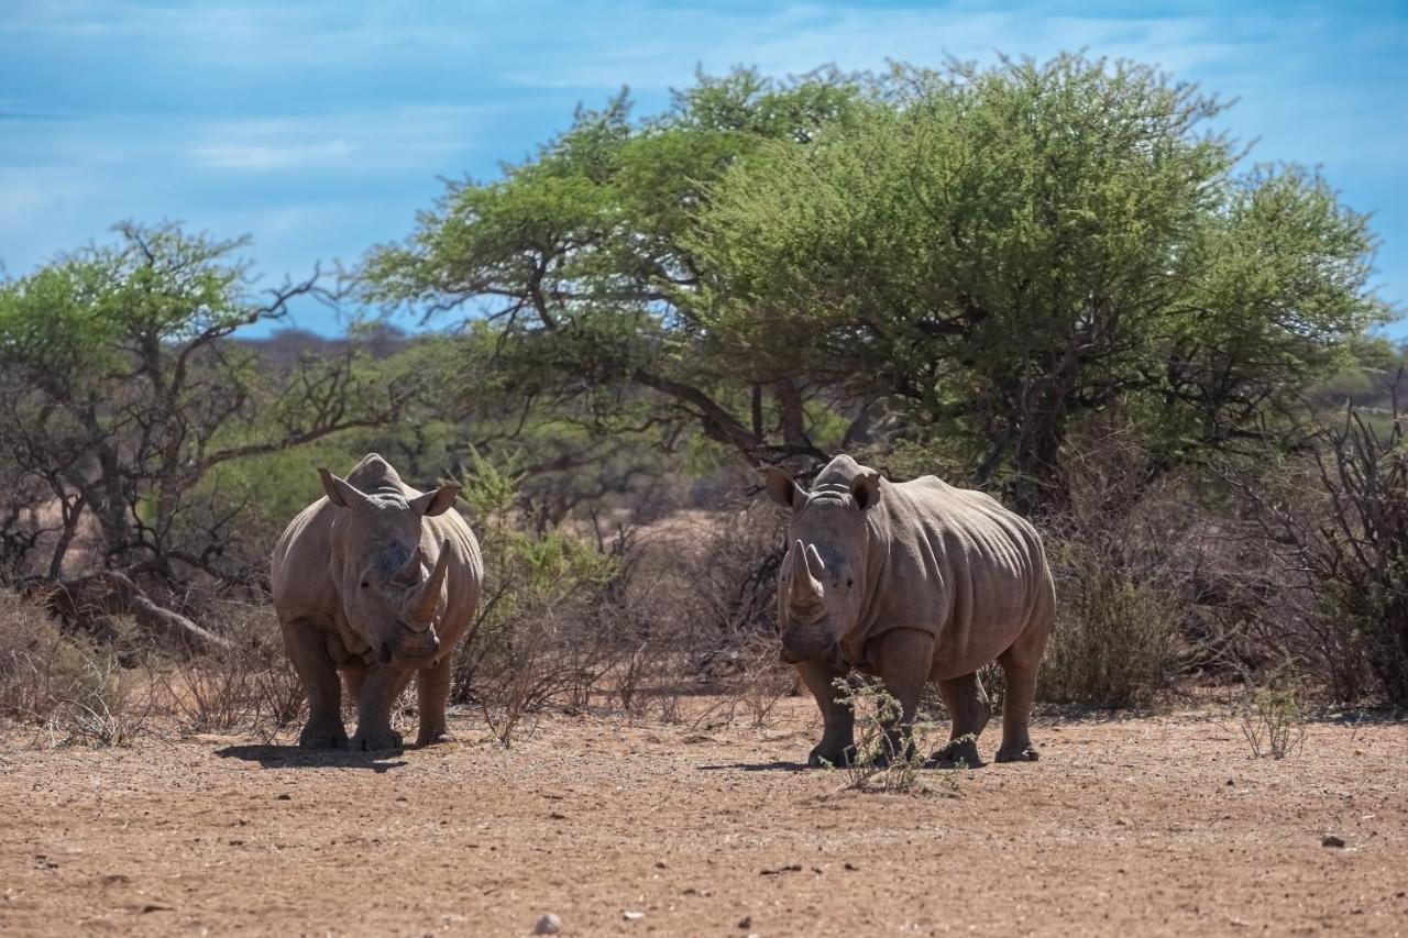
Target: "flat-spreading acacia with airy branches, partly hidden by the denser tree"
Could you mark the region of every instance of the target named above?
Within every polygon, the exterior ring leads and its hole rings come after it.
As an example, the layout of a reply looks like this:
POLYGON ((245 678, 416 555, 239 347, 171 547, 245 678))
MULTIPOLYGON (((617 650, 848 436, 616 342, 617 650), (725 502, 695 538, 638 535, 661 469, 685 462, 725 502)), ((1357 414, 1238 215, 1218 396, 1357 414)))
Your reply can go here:
POLYGON ((687 424, 752 465, 824 456, 801 373, 752 380, 704 354, 687 234, 729 166, 766 141, 807 146, 860 96, 836 75, 739 70, 635 121, 622 93, 503 179, 449 186, 406 244, 370 255, 366 297, 467 308, 482 407, 497 394, 504 413, 539 407, 667 449, 687 424))

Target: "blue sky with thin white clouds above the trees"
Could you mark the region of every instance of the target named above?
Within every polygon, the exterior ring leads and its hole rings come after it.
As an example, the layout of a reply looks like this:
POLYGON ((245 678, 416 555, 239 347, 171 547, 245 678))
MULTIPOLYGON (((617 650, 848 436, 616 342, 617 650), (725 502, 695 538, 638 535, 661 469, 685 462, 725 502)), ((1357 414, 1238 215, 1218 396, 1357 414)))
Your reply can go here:
MULTIPOLYGON (((1159 63, 1239 104, 1259 161, 1374 211, 1408 301, 1408 3, 391 3, 0 0, 0 263, 124 218, 249 234, 265 282, 400 239, 438 177, 491 177, 628 85, 1063 49, 1159 63)), ((332 332, 322 307, 296 324, 332 332)), ((1408 324, 1393 334, 1408 337, 1408 324)))

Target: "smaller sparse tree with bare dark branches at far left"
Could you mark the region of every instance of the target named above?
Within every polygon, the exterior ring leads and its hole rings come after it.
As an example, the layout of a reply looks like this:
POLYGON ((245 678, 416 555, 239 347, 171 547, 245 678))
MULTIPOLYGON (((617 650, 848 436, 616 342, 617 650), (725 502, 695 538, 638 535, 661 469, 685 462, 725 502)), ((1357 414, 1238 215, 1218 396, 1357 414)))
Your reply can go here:
POLYGON ((211 489, 218 469, 390 420, 404 389, 355 354, 275 369, 235 330, 325 296, 317 275, 258 296, 245 241, 124 224, 94 245, 0 284, 0 451, 8 573, 70 583, 217 582, 244 504, 211 489), (92 524, 89 521, 92 520, 92 524), (97 532, 86 570, 80 532, 97 532), (48 530, 45 530, 48 528, 48 530), (45 548, 34 568, 27 556, 45 548), (117 577, 117 580, 114 580, 117 577))

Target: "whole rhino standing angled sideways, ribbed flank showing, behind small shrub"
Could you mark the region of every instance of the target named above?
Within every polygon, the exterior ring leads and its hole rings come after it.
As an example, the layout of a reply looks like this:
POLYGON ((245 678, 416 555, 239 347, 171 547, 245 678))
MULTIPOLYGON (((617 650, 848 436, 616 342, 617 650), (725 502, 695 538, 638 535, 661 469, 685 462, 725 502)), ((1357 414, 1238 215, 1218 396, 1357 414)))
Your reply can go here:
POLYGON ((879 675, 900 703, 891 744, 912 725, 919 694, 936 682, 952 717, 941 763, 980 765, 988 720, 979 668, 1002 666, 998 762, 1035 761, 1028 735, 1036 668, 1056 608, 1041 538, 981 492, 934 476, 894 483, 836 456, 804 492, 784 469, 769 496, 791 510, 779 583, 781 658, 815 696, 821 742, 810 765, 853 756, 853 713, 834 682, 879 675))

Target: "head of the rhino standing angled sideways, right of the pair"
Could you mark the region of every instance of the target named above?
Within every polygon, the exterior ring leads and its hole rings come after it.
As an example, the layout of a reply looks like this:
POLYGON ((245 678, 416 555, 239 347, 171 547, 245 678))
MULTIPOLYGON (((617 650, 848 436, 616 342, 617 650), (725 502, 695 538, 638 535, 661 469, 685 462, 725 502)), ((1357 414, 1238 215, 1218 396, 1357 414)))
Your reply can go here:
POLYGON ((811 492, 786 469, 767 470, 767 494, 791 510, 791 546, 777 572, 777 621, 787 663, 841 665, 841 639, 860 620, 870 531, 866 513, 880 501, 880 473, 838 456, 811 492))

